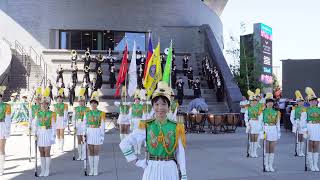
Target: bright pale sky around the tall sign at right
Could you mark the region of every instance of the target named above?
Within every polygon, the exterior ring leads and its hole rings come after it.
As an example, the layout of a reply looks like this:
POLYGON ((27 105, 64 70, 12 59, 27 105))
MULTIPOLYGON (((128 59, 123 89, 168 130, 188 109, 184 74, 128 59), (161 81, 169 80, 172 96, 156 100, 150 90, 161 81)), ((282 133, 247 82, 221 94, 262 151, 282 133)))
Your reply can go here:
MULTIPOLYGON (((221 20, 225 50, 230 36, 253 32, 254 23, 272 28, 273 72, 281 83, 282 59, 320 59, 320 0, 229 0, 221 20), (245 30, 240 24, 245 24, 245 30)), ((233 63, 226 56, 228 63, 233 63)))

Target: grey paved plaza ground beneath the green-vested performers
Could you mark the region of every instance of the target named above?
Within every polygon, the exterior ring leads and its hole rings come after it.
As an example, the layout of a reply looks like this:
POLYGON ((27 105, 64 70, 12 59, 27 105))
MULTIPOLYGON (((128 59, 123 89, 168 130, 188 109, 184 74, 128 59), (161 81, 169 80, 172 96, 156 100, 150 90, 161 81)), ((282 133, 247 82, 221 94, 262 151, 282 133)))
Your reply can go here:
MULTIPOLYGON (((109 127, 102 146, 99 176, 86 177, 83 162, 73 161, 73 136, 66 131, 65 152, 51 151, 52 164, 48 180, 141 180, 143 170, 127 163, 119 149, 119 132, 109 127)), ((235 133, 187 134, 187 173, 189 180, 319 180, 320 173, 305 172, 304 158, 294 156, 294 134, 283 131, 276 148, 276 172, 262 171, 259 158, 246 157, 247 136, 244 128, 235 133)), ((32 154, 34 149, 32 145, 32 154)), ((5 174, 0 179, 29 180, 34 176, 35 160, 29 162, 29 137, 13 134, 7 141, 5 174)), ((40 160, 38 158, 38 165, 40 160)))

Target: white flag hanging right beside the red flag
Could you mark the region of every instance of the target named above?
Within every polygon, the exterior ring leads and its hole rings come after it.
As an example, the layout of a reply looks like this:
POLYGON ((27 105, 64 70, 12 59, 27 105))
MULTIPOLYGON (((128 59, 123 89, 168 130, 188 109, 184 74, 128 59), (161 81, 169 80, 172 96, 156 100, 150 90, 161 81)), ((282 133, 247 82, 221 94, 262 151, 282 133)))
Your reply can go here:
POLYGON ((129 87, 128 95, 133 96, 137 89, 137 56, 136 56, 136 41, 133 41, 132 58, 129 67, 129 87))

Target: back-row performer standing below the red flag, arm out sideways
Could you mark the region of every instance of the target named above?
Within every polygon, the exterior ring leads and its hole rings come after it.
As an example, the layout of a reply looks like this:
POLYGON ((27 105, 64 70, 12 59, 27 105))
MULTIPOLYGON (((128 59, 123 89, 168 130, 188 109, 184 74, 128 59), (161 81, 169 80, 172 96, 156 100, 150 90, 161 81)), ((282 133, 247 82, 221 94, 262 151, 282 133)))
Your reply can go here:
POLYGON ((130 103, 126 102, 126 87, 122 86, 121 102, 114 102, 114 105, 119 107, 118 124, 120 125, 120 140, 122 141, 129 134, 130 120, 129 109, 130 103))

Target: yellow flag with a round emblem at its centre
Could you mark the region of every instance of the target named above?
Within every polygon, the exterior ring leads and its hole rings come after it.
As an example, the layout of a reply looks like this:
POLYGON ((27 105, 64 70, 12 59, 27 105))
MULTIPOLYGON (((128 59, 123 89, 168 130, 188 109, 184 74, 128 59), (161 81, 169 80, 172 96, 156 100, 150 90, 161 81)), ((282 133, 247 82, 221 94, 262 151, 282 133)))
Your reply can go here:
POLYGON ((161 78, 162 69, 160 63, 160 42, 158 42, 158 45, 148 63, 146 78, 143 81, 144 87, 147 91, 147 99, 150 98, 161 78))

